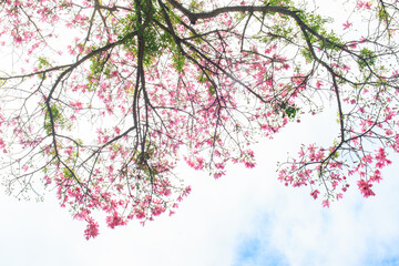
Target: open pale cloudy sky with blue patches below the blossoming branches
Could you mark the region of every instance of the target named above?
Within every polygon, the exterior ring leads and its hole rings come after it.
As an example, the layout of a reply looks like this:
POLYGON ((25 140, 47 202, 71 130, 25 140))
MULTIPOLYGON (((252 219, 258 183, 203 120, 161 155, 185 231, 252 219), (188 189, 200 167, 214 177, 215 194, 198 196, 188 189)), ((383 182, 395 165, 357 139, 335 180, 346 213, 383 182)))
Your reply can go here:
POLYGON ((180 165, 193 192, 174 216, 144 227, 132 222, 110 229, 101 223, 91 241, 83 236, 85 224, 73 221, 51 193, 35 203, 0 188, 1 265, 399 265, 399 156, 372 187, 375 197, 365 200, 352 182, 329 208, 310 188, 285 187, 276 178, 277 161, 300 143, 331 143, 335 117, 334 110, 304 116, 275 140, 259 140, 255 168, 234 165, 217 181, 180 165))

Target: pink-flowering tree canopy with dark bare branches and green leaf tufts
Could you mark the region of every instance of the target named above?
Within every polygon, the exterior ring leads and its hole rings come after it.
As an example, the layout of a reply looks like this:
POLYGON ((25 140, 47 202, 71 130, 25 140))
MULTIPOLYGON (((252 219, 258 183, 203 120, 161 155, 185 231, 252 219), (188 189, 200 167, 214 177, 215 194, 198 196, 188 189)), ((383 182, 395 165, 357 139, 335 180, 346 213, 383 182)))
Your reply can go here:
MULTIPOLYGON (((365 197, 399 152, 398 2, 348 1, 334 29, 310 1, 4 0, 0 149, 9 193, 61 206, 99 234, 173 214, 180 160, 215 178, 250 144, 332 103, 336 141, 278 166, 324 206, 365 197)), ((344 7, 337 7, 337 10, 344 7)))

